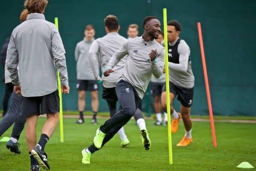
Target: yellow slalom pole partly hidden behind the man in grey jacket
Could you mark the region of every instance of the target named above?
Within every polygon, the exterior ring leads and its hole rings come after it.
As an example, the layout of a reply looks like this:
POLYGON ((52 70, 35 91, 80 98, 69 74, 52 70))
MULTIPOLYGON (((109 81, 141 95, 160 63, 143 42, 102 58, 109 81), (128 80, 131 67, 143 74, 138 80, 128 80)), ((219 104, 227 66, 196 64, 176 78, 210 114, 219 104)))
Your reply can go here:
MULTIPOLYGON (((58 29, 58 17, 55 17, 54 21, 55 21, 55 26, 58 29)), ((59 92, 59 97, 60 97, 60 132, 61 132, 61 142, 64 142, 61 80, 60 80, 60 74, 59 74, 58 71, 57 71, 57 79, 58 79, 58 92, 59 92)))

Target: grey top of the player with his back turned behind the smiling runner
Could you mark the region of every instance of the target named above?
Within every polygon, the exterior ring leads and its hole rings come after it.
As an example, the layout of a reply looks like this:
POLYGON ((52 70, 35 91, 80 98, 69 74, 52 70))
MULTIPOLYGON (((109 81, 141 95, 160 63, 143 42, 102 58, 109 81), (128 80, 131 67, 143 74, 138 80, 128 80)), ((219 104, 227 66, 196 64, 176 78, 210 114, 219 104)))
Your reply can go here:
MULTIPOLYGON (((99 64, 101 65, 102 73, 105 71, 105 67, 111 59, 112 55, 127 41, 126 38, 119 35, 117 32, 111 32, 102 38, 98 38, 93 41, 90 50, 89 57, 93 69, 94 79, 99 79, 99 73, 97 72, 97 53, 99 53, 99 64)), ((116 82, 122 74, 122 69, 125 66, 126 57, 113 68, 115 72, 111 73, 108 77, 102 75, 102 83, 105 88, 116 87, 116 82)))

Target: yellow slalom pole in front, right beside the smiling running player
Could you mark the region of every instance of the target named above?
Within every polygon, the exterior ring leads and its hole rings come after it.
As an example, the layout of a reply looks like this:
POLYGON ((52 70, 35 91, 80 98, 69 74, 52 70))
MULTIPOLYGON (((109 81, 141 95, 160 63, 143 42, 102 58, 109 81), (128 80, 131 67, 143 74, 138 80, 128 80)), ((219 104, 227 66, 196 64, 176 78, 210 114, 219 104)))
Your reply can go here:
POLYGON ((167 104, 167 129, 168 129, 168 148, 169 148, 169 164, 172 165, 172 130, 171 130, 171 114, 170 114, 170 90, 169 90, 169 67, 168 67, 168 41, 167 41, 167 12, 163 9, 163 34, 165 47, 165 70, 166 70, 166 104, 167 104))

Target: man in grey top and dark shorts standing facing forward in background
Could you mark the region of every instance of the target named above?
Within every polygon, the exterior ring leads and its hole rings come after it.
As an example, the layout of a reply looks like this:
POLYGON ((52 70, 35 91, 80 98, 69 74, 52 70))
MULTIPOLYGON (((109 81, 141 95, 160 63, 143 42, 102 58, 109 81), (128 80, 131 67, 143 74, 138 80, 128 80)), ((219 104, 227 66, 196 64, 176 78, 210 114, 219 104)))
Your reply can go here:
MULTIPOLYGON (((78 110, 80 117, 77 124, 84 123, 84 108, 85 108, 85 96, 86 91, 90 91, 91 106, 93 110, 92 124, 97 124, 96 115, 99 109, 98 98, 98 84, 95 81, 92 68, 89 61, 89 49, 94 41, 95 30, 93 25, 87 25, 84 30, 84 40, 76 44, 75 59, 76 59, 76 72, 77 72, 77 84, 78 90, 78 110)), ((99 68, 97 68, 99 71, 99 68)))

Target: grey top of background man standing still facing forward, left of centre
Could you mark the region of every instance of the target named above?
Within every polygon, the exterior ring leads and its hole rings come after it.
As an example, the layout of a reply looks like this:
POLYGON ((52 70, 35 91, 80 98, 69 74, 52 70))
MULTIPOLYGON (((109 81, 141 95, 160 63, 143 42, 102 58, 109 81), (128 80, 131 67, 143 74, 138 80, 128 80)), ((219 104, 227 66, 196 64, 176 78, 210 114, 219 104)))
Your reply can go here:
MULTIPOLYGON (((86 41, 84 38, 83 41, 76 44, 75 60, 76 78, 78 80, 95 80, 89 60, 89 49, 92 43, 93 41, 86 41)), ((99 72, 99 67, 97 67, 96 71, 99 72)))

